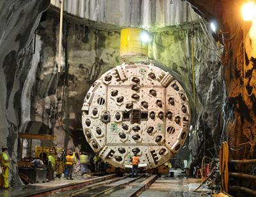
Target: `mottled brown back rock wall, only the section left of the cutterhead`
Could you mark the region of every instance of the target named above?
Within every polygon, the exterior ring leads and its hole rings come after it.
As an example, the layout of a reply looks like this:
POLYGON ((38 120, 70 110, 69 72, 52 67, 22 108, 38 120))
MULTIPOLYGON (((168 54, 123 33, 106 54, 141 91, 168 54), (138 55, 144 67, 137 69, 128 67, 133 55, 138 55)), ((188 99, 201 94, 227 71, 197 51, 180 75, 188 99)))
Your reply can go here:
MULTIPOLYGON (((56 142, 65 149, 85 142, 81 124, 84 95, 106 70, 120 64, 120 35, 93 29, 75 20, 63 22, 61 73, 57 74, 58 31, 57 13, 47 11, 36 30, 36 46, 40 63, 35 70, 36 81, 31 95, 31 120, 22 132, 47 133, 57 136, 56 142), (58 84, 57 84, 58 79, 58 84)), ((47 145, 36 142, 33 145, 47 145)))

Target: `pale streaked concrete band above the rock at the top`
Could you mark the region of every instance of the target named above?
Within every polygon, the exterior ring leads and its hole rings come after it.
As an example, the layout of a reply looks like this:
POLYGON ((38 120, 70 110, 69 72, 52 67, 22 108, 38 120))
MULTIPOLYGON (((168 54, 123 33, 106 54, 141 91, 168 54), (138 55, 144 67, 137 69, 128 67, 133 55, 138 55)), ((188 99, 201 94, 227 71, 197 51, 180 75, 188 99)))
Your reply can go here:
MULTIPOLYGON (((60 1, 51 0, 51 5, 60 8, 60 1)), ((190 4, 177 0, 65 0, 64 10, 117 26, 163 27, 198 19, 190 4)))

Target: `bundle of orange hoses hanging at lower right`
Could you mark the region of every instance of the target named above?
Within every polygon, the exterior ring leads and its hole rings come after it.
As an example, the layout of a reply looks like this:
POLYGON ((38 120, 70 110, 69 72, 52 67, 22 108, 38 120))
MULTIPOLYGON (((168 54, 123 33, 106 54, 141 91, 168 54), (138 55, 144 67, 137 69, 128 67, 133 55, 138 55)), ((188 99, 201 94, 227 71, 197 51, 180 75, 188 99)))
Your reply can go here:
POLYGON ((223 142, 220 148, 221 192, 228 193, 228 142, 223 142))

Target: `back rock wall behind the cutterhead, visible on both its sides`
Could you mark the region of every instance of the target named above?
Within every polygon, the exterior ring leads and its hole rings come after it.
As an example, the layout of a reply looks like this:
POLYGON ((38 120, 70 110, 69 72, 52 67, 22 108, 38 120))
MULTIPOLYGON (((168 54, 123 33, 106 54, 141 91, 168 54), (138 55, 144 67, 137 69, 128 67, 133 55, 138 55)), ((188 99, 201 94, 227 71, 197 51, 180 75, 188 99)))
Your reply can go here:
MULTIPOLYGON (((81 20, 66 18, 63 26, 62 69, 58 76, 56 96, 58 13, 47 11, 43 18, 44 21, 36 30, 36 43, 41 47, 38 47, 40 66, 36 69, 35 87, 31 97, 33 118, 22 132, 54 133, 57 135, 57 141, 54 143, 59 147, 70 148, 79 144, 85 146, 81 132, 81 104, 89 87, 102 73, 122 64, 119 57, 120 33, 115 28, 105 31, 104 26, 91 26, 81 20), (58 121, 53 126, 54 120, 58 119, 62 119, 61 127, 58 121)), ((207 147, 214 147, 213 142, 218 144, 221 132, 220 111, 225 92, 220 91, 225 88, 223 66, 213 50, 205 49, 204 45, 208 45, 207 38, 200 31, 198 24, 196 26, 196 109, 192 107, 192 110, 196 110, 197 115, 192 115, 192 119, 194 125, 195 121, 197 122, 198 131, 195 131, 194 126, 189 138, 190 143, 187 142, 183 154, 183 149, 180 152, 180 155, 186 158, 189 151, 192 155, 204 151, 201 149, 204 144, 204 133, 208 136, 207 147)), ((156 66, 173 73, 188 92, 190 101, 193 101, 191 26, 150 29, 148 56, 154 60, 156 66)), ((90 149, 88 146, 83 148, 90 149)))

